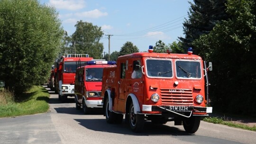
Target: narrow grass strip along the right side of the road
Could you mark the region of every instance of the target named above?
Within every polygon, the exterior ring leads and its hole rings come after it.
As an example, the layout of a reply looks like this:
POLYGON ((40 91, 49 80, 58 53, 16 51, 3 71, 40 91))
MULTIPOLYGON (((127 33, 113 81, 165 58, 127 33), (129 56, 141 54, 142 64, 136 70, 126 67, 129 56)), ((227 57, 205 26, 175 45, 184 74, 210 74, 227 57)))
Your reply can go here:
POLYGON ((246 129, 246 130, 250 130, 250 131, 256 131, 256 126, 250 127, 250 126, 247 126, 244 124, 238 124, 238 123, 234 123, 231 121, 225 121, 225 120, 223 120, 223 118, 219 118, 219 117, 204 117, 203 121, 214 123, 214 124, 222 124, 222 125, 227 125, 227 126, 231 126, 231 127, 246 129))

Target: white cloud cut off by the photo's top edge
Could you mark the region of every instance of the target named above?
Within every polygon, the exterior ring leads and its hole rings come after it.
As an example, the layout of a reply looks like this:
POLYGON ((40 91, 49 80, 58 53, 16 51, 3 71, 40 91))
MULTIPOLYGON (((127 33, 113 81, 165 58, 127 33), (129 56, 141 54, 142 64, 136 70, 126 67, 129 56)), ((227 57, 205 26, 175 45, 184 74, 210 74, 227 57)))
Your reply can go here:
POLYGON ((85 7, 84 0, 49 0, 56 9, 78 10, 85 7))

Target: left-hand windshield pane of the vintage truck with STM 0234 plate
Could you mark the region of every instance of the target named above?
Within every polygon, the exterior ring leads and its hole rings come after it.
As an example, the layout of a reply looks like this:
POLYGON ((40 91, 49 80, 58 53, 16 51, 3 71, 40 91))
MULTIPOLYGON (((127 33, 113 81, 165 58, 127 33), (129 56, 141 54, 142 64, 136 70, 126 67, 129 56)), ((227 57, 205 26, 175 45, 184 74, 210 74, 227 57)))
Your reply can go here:
POLYGON ((173 77, 173 64, 171 60, 147 59, 146 74, 149 77, 173 77))

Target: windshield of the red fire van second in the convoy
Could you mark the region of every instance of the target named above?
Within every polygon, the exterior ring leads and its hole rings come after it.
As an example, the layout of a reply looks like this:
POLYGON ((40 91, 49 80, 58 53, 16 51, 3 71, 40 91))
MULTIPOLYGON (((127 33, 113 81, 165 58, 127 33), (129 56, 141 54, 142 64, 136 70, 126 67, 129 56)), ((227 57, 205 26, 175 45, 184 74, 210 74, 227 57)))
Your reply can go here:
POLYGON ((86 81, 102 81, 103 68, 87 68, 86 81))

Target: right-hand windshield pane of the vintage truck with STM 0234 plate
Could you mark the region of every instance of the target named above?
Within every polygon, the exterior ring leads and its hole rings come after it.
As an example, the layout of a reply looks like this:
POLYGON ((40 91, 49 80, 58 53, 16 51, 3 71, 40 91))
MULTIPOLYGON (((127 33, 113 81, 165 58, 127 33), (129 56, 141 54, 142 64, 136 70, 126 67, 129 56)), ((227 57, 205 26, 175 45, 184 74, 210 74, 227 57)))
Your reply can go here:
POLYGON ((181 79, 201 79, 201 63, 199 61, 175 61, 176 76, 181 79))

